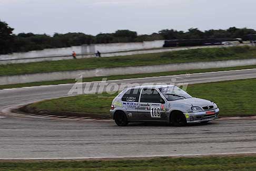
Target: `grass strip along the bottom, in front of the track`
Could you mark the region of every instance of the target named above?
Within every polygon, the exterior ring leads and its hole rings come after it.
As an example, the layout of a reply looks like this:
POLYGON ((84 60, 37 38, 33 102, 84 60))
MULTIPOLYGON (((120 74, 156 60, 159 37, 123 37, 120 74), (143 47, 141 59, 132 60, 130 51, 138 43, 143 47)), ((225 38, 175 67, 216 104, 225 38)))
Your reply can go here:
POLYGON ((0 161, 0 170, 256 170, 256 156, 85 161, 0 161))

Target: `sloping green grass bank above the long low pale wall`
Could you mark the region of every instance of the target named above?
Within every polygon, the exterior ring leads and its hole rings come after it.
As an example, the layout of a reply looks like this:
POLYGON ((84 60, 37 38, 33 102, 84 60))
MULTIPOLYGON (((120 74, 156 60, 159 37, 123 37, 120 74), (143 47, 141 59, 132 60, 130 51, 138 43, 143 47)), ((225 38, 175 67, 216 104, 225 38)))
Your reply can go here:
POLYGON ((31 74, 54 71, 72 71, 92 68, 158 65, 256 57, 256 47, 238 46, 223 48, 201 48, 130 56, 71 59, 25 64, 0 65, 0 75, 31 74))

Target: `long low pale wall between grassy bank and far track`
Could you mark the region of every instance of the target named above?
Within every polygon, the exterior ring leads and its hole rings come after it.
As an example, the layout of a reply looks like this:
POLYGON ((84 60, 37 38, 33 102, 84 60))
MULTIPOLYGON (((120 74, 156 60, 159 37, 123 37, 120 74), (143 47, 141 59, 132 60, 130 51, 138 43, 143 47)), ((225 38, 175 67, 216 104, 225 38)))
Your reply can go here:
POLYGON ((193 63, 177 63, 151 66, 131 66, 131 67, 114 67, 114 68, 96 68, 85 69, 79 71, 63 71, 37 74, 22 74, 0 76, 0 85, 22 84, 32 82, 57 81, 63 79, 75 79, 81 74, 84 78, 111 75, 127 75, 127 74, 144 74, 159 73, 171 71, 185 71, 189 69, 206 69, 256 65, 256 59, 229 60, 229 61, 212 61, 212 62, 193 62, 193 63))

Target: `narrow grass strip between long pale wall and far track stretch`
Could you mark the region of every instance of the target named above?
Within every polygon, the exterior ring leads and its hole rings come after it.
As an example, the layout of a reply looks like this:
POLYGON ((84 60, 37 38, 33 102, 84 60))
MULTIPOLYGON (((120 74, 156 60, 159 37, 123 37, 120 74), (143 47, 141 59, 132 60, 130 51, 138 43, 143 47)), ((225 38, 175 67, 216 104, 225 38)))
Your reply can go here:
MULTIPOLYGON (((205 72, 216 72, 216 71, 231 71, 231 70, 252 69, 252 68, 256 68, 256 65, 237 66, 237 67, 225 67, 225 68, 210 68, 210 69, 193 69, 193 70, 189 70, 189 71, 175 71, 175 72, 162 72, 162 73, 147 73, 147 74, 115 75, 115 76, 105 76, 105 77, 93 77, 93 78, 83 78, 83 82, 102 81, 102 78, 107 78, 107 80, 114 80, 114 79, 128 79, 128 78, 144 78, 144 77, 158 77, 158 76, 168 76, 168 75, 179 75, 179 74, 186 74, 186 73, 193 74, 193 73, 205 73, 205 72)), ((66 79, 66 80, 61 80, 61 81, 25 83, 25 84, 0 85, 0 89, 19 88, 19 87, 31 87, 31 86, 41 86, 41 85, 70 84, 70 83, 75 83, 75 79, 66 79)))

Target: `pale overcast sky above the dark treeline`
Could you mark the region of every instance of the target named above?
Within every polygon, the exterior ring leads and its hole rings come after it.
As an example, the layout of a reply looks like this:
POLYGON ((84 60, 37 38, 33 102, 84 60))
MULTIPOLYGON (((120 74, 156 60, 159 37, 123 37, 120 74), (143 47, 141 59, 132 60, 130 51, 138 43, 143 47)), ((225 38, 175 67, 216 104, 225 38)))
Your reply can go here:
POLYGON ((256 29, 255 17, 255 0, 0 0, 0 19, 14 33, 256 29))

